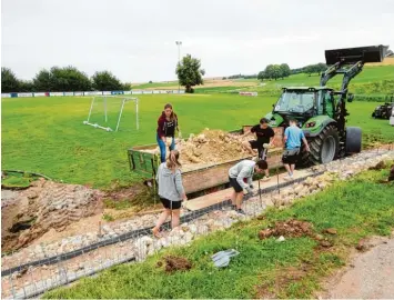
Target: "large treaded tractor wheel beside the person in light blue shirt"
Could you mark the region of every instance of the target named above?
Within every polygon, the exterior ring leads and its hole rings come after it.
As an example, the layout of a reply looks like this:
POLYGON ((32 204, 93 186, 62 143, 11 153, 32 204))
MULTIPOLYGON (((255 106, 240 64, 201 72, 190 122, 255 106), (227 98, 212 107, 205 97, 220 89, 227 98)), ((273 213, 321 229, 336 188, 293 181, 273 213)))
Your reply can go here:
POLYGON ((340 137, 334 126, 327 126, 322 132, 310 139, 311 152, 307 154, 310 164, 329 163, 336 159, 340 150, 340 137))

